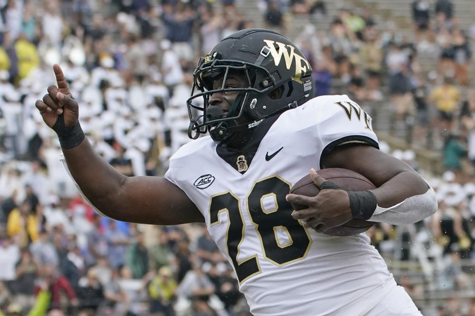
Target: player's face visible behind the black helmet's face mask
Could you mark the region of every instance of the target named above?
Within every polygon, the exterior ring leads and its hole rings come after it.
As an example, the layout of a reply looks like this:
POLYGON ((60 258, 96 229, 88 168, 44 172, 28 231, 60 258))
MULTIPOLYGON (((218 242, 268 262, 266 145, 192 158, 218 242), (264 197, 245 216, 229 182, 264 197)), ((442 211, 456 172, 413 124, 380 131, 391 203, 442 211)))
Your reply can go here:
MULTIPOLYGON (((216 78, 213 81, 213 89, 220 89, 223 86, 223 79, 224 75, 216 78)), ((230 73, 228 74, 224 88, 242 88, 244 86, 246 86, 244 75, 230 73)), ((208 103, 210 106, 219 106, 223 109, 224 114, 227 115, 237 96, 238 91, 216 92, 209 97, 208 103)))

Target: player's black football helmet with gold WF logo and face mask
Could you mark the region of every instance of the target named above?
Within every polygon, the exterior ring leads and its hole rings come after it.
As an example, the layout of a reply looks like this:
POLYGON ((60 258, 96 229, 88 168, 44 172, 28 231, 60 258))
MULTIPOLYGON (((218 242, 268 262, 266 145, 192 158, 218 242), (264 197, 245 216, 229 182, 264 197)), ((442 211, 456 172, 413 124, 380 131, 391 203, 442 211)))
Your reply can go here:
POLYGON ((282 35, 264 29, 238 31, 221 40, 193 72, 188 136, 198 138, 209 132, 215 141, 226 139, 238 130, 253 128, 264 118, 297 107, 313 97, 312 69, 302 52, 282 35), (230 73, 241 74, 244 87, 226 87, 230 73), (213 89, 213 81, 223 84, 213 89), (274 90, 278 90, 278 93, 274 90), (228 113, 209 107, 213 93, 236 92, 228 113), (272 92, 272 93, 271 93, 272 92), (271 94, 270 94, 271 93, 271 94), (242 119, 248 118, 242 123, 242 119))

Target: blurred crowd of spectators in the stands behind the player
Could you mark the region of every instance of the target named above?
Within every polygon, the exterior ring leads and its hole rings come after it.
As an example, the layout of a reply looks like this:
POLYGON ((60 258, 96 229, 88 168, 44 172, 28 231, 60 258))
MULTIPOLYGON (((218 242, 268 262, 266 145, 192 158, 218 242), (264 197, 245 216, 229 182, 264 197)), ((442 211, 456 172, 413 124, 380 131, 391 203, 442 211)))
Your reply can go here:
MULTIPOLYGON (((368 234, 388 264, 422 263, 425 282, 398 279, 416 303, 428 286, 453 291, 427 315, 475 316, 474 272, 466 269, 475 261, 475 27, 460 28, 451 1, 432 2, 412 4, 411 36, 390 22, 382 31, 370 9, 345 7, 328 32, 309 25, 292 40, 311 63, 316 95, 345 93, 371 113, 389 103, 391 129, 410 129, 409 143, 442 153, 440 176, 420 168, 411 149, 381 142, 427 178, 439 209, 414 227, 375 225, 368 234), (427 51, 439 56, 428 74, 419 60, 427 51)), ((328 14, 326 1, 259 7, 267 27, 284 33, 289 14, 328 14)), ((95 150, 123 174, 162 175, 189 141, 186 100, 197 56, 256 26, 239 2, 0 0, 0 13, 0 315, 250 315, 204 226, 97 215, 34 107, 59 63, 95 150)))

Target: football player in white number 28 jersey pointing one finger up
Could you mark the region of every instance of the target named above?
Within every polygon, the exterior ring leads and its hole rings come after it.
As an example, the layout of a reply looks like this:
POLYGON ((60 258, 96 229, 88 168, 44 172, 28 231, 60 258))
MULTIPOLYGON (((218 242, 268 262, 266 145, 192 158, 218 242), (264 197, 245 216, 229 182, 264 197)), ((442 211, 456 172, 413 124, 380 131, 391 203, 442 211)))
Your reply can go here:
POLYGON ((378 150, 358 104, 346 95, 313 98, 312 69, 291 41, 247 29, 200 59, 187 102, 195 140, 173 155, 164 177, 126 177, 95 154, 62 71, 53 69, 58 86, 36 107, 97 212, 145 224, 205 223, 256 316, 421 315, 365 234, 323 232, 351 218, 420 221, 436 210, 434 192, 378 150), (377 188, 341 190, 315 172, 328 167, 354 170, 377 188), (289 194, 309 171, 321 192, 289 194), (293 211, 290 202, 308 207, 293 211))

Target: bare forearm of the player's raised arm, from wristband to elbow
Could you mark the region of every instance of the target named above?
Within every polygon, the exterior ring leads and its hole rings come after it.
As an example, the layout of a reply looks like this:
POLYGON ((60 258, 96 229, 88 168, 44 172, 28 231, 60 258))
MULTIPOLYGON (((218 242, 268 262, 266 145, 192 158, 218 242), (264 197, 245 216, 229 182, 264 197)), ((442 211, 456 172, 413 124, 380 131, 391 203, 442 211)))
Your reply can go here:
POLYGON ((94 152, 87 140, 71 149, 63 149, 67 167, 82 194, 105 215, 120 205, 120 191, 127 177, 120 174, 94 152))

